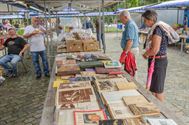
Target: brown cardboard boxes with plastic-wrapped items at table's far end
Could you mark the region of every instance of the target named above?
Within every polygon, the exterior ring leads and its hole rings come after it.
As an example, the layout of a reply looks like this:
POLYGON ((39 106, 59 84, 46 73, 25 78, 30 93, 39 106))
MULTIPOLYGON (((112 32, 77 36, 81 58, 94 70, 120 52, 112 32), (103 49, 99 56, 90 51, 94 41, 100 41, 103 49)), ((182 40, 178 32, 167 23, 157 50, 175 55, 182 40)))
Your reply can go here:
POLYGON ((77 29, 64 35, 65 42, 57 46, 57 52, 88 52, 98 51, 99 42, 92 32, 77 29))

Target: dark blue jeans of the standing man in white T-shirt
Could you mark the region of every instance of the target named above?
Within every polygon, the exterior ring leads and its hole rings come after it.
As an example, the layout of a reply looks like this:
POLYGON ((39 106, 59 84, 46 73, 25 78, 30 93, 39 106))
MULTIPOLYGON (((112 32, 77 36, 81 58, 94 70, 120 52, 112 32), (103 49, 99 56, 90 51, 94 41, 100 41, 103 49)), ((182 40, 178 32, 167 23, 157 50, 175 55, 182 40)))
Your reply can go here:
POLYGON ((48 65, 48 61, 47 61, 46 51, 44 50, 44 51, 38 51, 38 52, 31 52, 31 54, 32 54, 32 61, 33 61, 33 65, 35 68, 36 75, 41 75, 39 56, 42 59, 44 74, 49 74, 49 65, 48 65))

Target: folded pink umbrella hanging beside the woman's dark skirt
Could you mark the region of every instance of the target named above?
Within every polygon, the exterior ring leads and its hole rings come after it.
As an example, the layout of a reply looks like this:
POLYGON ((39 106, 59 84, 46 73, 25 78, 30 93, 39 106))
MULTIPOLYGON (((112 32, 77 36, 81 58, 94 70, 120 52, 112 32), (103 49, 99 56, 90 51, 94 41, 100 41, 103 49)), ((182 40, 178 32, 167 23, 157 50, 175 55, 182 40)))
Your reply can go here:
POLYGON ((146 82, 146 89, 149 90, 152 82, 152 74, 154 72, 155 57, 152 59, 151 64, 148 68, 148 77, 146 82))

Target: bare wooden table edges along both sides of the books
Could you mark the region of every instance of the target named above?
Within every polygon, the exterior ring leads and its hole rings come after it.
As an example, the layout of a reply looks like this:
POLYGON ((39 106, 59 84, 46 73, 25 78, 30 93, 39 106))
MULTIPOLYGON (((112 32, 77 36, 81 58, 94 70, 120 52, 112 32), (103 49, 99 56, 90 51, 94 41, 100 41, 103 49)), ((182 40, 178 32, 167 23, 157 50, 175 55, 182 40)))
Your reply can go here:
MULTIPOLYGON (((138 91, 145 96, 149 101, 153 102, 161 111, 161 114, 165 118, 173 119, 178 125, 184 125, 184 122, 180 120, 178 116, 175 115, 170 109, 173 109, 169 104, 162 103, 157 100, 151 92, 147 91, 141 84, 135 80, 130 80, 129 75, 125 75, 129 81, 133 81, 138 86, 138 91)), ((51 78, 49 82, 49 87, 44 102, 43 113, 40 121, 40 125, 55 125, 55 89, 53 86, 53 81, 55 79, 55 63, 53 65, 51 78)))

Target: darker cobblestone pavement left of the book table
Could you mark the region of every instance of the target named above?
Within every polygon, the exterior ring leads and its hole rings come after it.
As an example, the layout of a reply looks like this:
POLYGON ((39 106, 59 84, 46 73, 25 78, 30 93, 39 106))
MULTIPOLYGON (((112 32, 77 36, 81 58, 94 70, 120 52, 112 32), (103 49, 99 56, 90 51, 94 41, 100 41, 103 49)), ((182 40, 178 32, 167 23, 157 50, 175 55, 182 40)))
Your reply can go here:
POLYGON ((0 86, 0 125, 39 125, 49 78, 36 80, 31 59, 25 63, 28 73, 20 70, 0 86))

